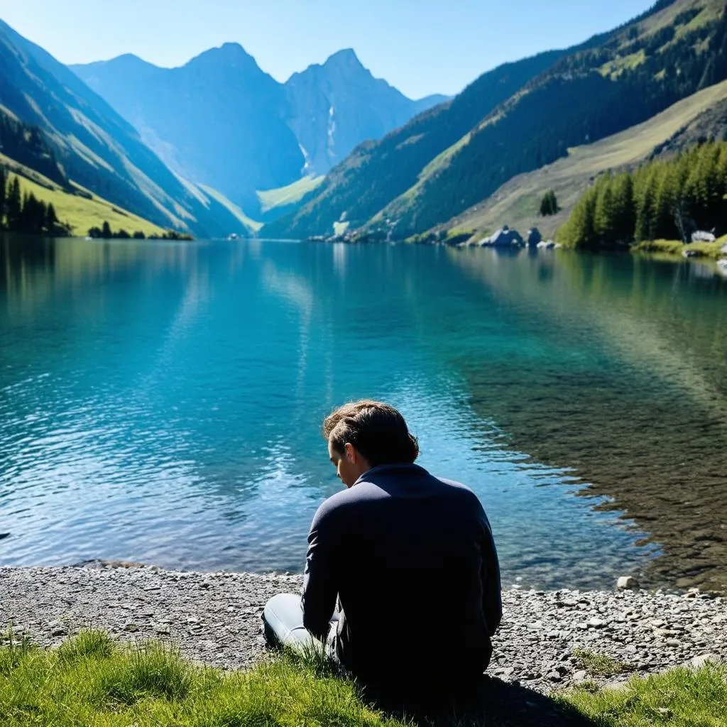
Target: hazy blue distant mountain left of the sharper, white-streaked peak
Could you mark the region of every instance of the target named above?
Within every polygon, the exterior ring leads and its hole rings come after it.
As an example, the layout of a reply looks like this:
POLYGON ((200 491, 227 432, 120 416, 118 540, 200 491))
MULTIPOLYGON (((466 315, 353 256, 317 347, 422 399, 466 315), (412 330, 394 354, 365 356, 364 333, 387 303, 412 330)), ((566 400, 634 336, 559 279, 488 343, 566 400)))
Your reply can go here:
POLYGON ((238 44, 181 68, 128 55, 72 68, 175 172, 238 204, 300 177, 305 158, 286 124, 285 89, 238 44))

